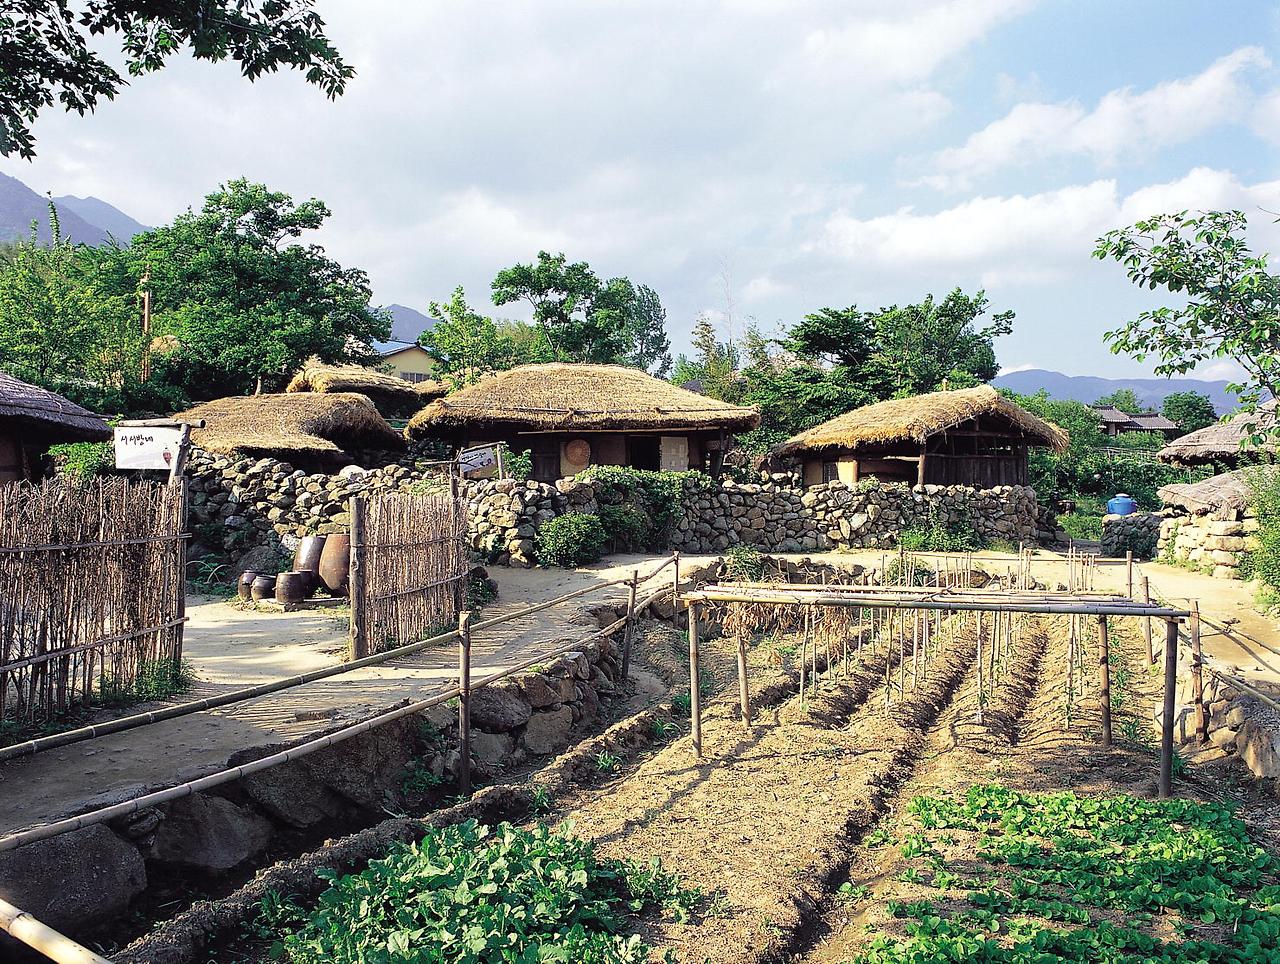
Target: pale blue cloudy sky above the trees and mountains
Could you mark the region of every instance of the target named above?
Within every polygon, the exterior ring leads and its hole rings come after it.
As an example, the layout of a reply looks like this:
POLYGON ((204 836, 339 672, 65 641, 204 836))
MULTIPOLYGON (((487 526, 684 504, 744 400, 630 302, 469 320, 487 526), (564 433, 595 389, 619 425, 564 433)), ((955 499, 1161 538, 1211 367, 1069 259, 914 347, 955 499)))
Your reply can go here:
MULTIPOLYGON (((1260 0, 319 0, 337 101, 174 58, 0 172, 161 224, 248 177, 333 218, 376 303, 539 250, 649 284, 673 347, 986 289, 1005 370, 1135 376, 1103 332, 1167 302, 1091 257, 1240 209, 1280 256, 1280 6, 1260 0), (1272 214, 1277 213, 1277 214, 1272 214)), ((520 316, 511 307, 495 310, 520 316)), ((1230 365, 1197 374, 1226 378, 1230 365)))

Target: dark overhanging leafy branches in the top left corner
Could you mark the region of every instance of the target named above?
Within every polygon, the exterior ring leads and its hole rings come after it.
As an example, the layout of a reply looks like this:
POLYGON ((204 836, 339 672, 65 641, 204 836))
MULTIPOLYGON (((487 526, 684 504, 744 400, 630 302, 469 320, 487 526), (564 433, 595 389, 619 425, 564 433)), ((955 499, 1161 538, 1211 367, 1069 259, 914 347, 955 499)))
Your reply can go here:
POLYGON ((239 64, 250 81, 280 67, 337 97, 355 70, 329 44, 314 0, 10 0, 0 13, 0 155, 35 155, 31 127, 56 100, 79 114, 127 81, 90 46, 116 33, 131 76, 159 70, 186 46, 239 64))

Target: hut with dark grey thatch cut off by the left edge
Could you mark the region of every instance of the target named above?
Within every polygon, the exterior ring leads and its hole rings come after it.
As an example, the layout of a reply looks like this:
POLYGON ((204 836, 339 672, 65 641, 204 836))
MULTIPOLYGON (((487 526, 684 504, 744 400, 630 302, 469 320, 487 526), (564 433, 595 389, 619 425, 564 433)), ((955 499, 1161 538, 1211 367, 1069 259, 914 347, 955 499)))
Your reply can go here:
POLYGON ((0 483, 38 479, 50 446, 110 438, 110 426, 93 412, 0 373, 0 483))

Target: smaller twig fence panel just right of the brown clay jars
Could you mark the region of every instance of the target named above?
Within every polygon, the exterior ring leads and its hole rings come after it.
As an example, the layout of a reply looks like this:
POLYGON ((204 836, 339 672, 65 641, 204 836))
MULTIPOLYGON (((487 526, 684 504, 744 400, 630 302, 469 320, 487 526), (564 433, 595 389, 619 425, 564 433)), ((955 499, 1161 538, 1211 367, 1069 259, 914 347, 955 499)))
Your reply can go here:
POLYGON ((466 600, 467 507, 448 488, 352 499, 353 658, 457 625, 466 600))

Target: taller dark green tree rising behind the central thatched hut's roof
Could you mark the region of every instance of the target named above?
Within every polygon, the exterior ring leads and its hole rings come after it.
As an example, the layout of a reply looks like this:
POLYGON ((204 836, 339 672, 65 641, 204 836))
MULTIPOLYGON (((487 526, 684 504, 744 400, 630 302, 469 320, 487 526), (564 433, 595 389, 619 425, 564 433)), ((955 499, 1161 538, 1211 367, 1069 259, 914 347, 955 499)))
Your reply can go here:
POLYGON ((493 279, 493 303, 526 301, 556 358, 632 365, 664 376, 671 370, 667 312, 652 288, 626 278, 602 282, 563 253, 538 252, 493 279))

